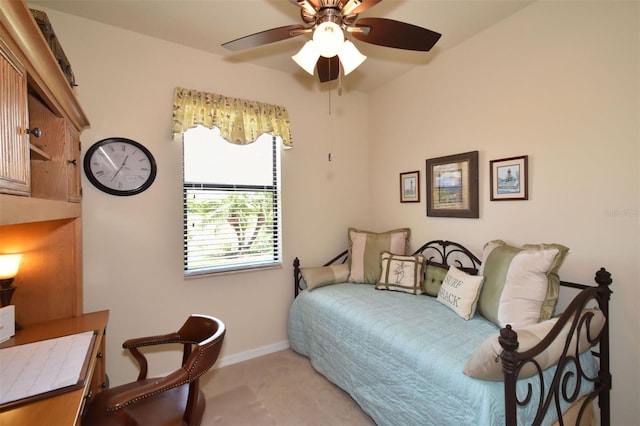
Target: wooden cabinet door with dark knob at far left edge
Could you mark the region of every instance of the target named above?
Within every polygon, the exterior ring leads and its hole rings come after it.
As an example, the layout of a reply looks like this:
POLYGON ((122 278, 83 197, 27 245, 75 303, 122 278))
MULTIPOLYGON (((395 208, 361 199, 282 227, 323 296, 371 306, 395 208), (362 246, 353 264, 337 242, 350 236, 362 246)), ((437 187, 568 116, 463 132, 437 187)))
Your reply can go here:
POLYGON ((0 192, 29 195, 27 75, 0 40, 0 192))

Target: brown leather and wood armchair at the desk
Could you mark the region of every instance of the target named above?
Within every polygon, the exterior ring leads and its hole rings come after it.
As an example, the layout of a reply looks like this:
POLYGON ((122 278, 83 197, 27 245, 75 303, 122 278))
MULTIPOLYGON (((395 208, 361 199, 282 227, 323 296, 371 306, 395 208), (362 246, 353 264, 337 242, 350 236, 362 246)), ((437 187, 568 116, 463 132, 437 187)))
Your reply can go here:
POLYGON ((175 333, 127 340, 122 347, 138 362, 138 379, 98 393, 82 425, 199 425, 205 409, 199 378, 218 359, 224 336, 225 325, 219 319, 192 315, 175 333), (169 343, 184 345, 182 367, 148 379, 147 360, 139 348, 169 343))

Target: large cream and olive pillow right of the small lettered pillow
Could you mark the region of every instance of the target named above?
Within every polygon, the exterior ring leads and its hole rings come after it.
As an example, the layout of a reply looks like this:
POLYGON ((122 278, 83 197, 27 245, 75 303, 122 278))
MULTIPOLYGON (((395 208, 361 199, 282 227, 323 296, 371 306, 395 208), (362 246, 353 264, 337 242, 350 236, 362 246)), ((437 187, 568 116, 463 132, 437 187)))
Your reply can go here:
POLYGON ((549 319, 558 300, 558 269, 568 251, 560 244, 517 248, 501 240, 487 243, 478 312, 499 327, 521 328, 549 319))

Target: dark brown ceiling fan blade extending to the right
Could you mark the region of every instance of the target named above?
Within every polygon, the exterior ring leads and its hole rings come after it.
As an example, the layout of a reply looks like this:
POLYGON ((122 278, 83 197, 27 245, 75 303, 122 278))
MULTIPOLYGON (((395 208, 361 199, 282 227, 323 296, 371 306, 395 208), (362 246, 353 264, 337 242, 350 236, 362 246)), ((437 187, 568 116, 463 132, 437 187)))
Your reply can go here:
POLYGON ((358 19, 356 28, 363 31, 353 31, 351 35, 360 41, 395 49, 423 52, 431 50, 442 35, 426 28, 386 18, 358 19))

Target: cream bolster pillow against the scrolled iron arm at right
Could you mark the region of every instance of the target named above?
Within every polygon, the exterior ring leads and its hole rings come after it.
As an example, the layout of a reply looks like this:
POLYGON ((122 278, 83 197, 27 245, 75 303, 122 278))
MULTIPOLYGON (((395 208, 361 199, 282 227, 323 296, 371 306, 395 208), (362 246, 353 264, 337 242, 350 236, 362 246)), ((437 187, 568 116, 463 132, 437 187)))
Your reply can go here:
MULTIPOLYGON (((578 341, 578 353, 582 353, 591 347, 587 338, 587 330, 591 340, 596 339, 602 331, 606 319, 599 309, 585 309, 580 314, 581 320, 588 315, 591 319, 586 319, 585 325, 580 329, 579 339, 578 333, 572 336, 571 343, 567 354, 573 355, 576 351, 576 341, 578 341), (588 326, 587 326, 588 324, 588 326)), ((513 330, 518 333, 518 352, 528 351, 536 346, 540 341, 551 331, 553 326, 558 322, 558 317, 548 319, 524 328, 513 330)), ((571 328, 572 320, 569 320, 567 324, 562 328, 558 337, 551 342, 549 347, 540 355, 535 357, 535 360, 540 363, 540 368, 543 370, 555 365, 564 350, 564 345, 569 335, 569 329, 571 328)), ((500 361, 500 354, 502 353, 502 346, 498 342, 500 333, 495 333, 489 336, 484 342, 482 342, 476 350, 471 354, 467 363, 464 366, 464 374, 476 379, 502 381, 504 376, 502 374, 502 362, 500 361)), ((520 370, 519 379, 531 377, 537 374, 535 366, 531 363, 527 363, 520 370)))

